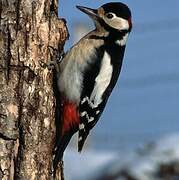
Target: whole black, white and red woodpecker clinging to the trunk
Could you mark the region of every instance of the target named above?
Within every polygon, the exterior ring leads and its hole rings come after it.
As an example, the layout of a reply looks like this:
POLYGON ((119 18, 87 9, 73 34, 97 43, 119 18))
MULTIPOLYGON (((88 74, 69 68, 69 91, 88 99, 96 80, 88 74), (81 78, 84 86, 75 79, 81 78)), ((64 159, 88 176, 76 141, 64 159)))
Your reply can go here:
POLYGON ((54 168, 73 134, 78 132, 81 151, 99 120, 120 74, 132 28, 131 11, 123 3, 107 3, 98 9, 77 8, 92 18, 96 28, 75 44, 60 63, 62 132, 54 168))

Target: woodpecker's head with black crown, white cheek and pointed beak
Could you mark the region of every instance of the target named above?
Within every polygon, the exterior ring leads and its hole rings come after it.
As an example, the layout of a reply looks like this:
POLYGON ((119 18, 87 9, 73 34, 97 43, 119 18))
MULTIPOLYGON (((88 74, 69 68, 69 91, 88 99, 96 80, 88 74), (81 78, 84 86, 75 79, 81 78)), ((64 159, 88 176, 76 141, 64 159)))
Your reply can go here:
POLYGON ((127 5, 120 2, 111 2, 98 9, 77 6, 79 10, 89 15, 97 29, 107 31, 127 31, 132 29, 131 11, 127 5))

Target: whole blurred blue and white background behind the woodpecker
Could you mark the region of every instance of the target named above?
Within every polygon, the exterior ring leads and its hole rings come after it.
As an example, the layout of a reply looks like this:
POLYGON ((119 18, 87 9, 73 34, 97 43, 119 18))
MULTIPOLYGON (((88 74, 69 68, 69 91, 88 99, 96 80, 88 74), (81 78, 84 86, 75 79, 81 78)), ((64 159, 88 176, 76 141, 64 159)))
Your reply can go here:
MULTIPOLYGON (((65 50, 94 28, 90 18, 75 5, 98 8, 106 2, 59 2, 59 16, 67 20, 70 33, 65 50)), ((178 148, 174 145, 179 144, 179 1, 121 2, 132 11, 133 30, 120 79, 82 154, 77 153, 75 137, 71 141, 64 157, 69 180, 100 179, 104 166, 112 167, 116 161, 118 169, 130 161, 129 167, 135 159, 131 154, 141 149, 144 152, 146 147, 147 151, 154 149, 153 144, 161 145, 162 139, 170 142, 171 146, 163 143, 166 147, 178 148)))

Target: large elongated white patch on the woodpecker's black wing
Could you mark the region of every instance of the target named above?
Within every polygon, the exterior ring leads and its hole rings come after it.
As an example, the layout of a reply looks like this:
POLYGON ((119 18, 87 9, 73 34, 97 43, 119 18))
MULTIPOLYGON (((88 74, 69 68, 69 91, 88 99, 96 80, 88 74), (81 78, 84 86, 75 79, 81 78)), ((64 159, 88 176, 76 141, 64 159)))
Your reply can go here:
POLYGON ((90 97, 90 103, 93 102, 93 107, 98 107, 102 102, 102 95, 111 81, 113 67, 110 59, 109 54, 105 52, 101 63, 101 69, 95 79, 95 86, 90 97))

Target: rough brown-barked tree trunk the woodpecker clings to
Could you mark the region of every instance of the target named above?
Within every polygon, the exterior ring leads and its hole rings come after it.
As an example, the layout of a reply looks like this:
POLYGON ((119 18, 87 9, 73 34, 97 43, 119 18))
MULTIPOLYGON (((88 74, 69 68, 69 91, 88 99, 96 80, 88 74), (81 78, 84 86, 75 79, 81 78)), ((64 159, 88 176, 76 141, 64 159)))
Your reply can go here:
POLYGON ((52 178, 54 74, 42 62, 50 60, 49 47, 62 51, 68 37, 57 11, 57 0, 0 0, 2 180, 52 178))

